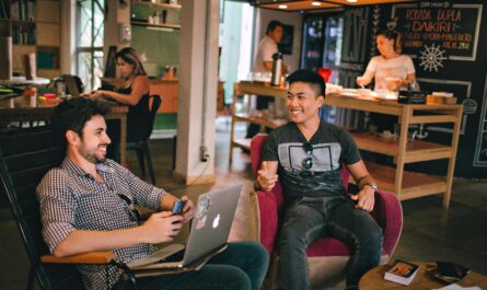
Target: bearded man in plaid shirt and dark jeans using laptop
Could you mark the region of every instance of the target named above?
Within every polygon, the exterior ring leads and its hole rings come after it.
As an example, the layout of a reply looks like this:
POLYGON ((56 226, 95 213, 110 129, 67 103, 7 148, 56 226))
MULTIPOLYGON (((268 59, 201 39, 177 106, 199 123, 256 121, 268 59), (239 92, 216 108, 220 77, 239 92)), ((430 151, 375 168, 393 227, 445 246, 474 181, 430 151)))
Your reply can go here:
MULTIPOLYGON (((187 197, 182 214, 172 214, 177 199, 136 177, 106 159, 111 139, 104 115, 107 106, 77 97, 59 104, 53 131, 66 156, 37 187, 43 235, 50 252, 65 257, 91 251, 113 251, 129 263, 156 251, 153 244, 171 242, 188 222, 195 207, 187 197), (156 210, 141 222, 134 206, 156 210)), ((139 289, 259 289, 268 265, 266 251, 256 243, 230 243, 198 271, 138 279, 139 289)), ((80 265, 88 289, 121 289, 120 270, 80 265)))

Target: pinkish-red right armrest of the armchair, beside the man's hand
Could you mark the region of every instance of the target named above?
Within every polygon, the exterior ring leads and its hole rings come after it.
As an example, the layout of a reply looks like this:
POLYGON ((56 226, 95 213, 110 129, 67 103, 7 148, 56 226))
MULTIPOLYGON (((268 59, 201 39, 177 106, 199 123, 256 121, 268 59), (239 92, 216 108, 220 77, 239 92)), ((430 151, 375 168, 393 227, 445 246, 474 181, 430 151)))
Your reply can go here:
POLYGON ((391 256, 403 228, 403 208, 399 200, 394 194, 378 192, 372 216, 384 231, 383 250, 391 256))

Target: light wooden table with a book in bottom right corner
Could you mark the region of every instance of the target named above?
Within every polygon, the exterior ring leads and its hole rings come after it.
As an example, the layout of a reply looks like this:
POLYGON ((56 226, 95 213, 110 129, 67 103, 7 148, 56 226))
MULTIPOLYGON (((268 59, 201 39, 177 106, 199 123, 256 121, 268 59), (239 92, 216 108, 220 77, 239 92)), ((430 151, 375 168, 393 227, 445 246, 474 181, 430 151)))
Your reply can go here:
MULTIPOLYGON (((386 264, 386 265, 380 265, 369 270, 366 275, 363 275, 359 282, 359 290, 376 290, 376 289, 425 290, 425 289, 437 289, 447 286, 447 283, 437 280, 436 278, 429 277, 426 274, 427 265, 428 264, 433 265, 433 263, 422 263, 422 262, 421 263, 414 262, 414 263, 419 265, 419 269, 418 272, 416 274, 416 277, 410 282, 410 285, 403 286, 399 283, 384 280, 384 272, 392 267, 391 265, 386 264)), ((457 282, 457 285, 462 287, 477 286, 480 289, 487 289, 487 276, 472 271, 462 281, 457 282)))

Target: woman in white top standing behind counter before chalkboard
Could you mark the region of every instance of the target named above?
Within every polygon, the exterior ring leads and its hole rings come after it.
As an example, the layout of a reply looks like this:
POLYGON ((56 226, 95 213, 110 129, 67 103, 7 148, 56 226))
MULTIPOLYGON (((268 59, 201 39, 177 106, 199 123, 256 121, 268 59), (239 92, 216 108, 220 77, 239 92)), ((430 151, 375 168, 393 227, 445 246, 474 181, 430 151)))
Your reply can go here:
POLYGON ((399 35, 381 31, 376 35, 380 56, 373 57, 357 84, 367 85, 375 78, 374 91, 398 91, 416 83, 416 71, 409 56, 401 54, 399 35))

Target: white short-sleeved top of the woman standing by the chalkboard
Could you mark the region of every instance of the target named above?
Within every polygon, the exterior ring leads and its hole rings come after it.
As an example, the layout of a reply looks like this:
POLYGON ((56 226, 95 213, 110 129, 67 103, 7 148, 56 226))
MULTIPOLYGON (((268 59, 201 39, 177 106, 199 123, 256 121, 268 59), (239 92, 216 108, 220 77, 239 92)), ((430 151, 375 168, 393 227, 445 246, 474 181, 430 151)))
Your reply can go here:
POLYGON ((409 56, 401 55, 396 58, 383 58, 382 56, 373 57, 367 70, 374 73, 375 86, 374 90, 387 90, 385 85, 385 78, 399 78, 406 80, 407 74, 415 73, 415 65, 409 56))

